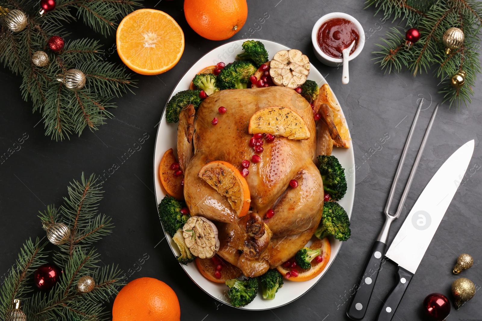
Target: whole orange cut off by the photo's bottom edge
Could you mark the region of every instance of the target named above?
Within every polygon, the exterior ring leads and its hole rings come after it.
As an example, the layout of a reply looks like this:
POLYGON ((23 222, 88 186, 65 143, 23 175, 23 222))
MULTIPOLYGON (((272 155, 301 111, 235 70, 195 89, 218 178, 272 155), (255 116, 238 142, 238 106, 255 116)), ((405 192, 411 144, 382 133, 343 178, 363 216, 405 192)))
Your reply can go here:
POLYGON ((116 296, 112 321, 179 321, 181 308, 174 290, 153 278, 127 283, 116 296))

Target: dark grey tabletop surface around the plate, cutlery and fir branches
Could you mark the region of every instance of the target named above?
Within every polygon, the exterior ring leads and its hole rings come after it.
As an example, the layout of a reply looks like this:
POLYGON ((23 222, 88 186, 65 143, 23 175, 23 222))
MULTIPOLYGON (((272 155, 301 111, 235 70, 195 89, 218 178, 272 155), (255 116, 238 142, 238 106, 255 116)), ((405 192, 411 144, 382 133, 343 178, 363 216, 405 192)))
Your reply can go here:
MULTIPOLYGON (((233 37, 238 39, 244 33, 249 35, 252 28, 253 37, 278 41, 307 53, 335 91, 347 116, 356 162, 360 166, 356 173, 352 236, 343 244, 335 262, 313 289, 295 302, 271 311, 235 310, 220 305, 191 282, 178 267, 163 240, 152 192, 155 126, 178 79, 205 52, 222 43, 203 39, 192 31, 186 23, 180 0, 145 2, 146 7, 171 14, 183 28, 186 49, 180 62, 171 71, 159 76, 139 75, 135 95, 126 94, 116 99, 115 118, 108 120, 95 133, 87 131, 80 138, 72 137, 71 141, 64 142, 44 137, 40 115, 32 115, 30 103, 21 99, 18 89, 21 77, 0 69, 1 154, 24 133, 24 137, 28 137, 21 149, 0 165, 0 276, 10 268, 25 239, 44 235, 37 218, 39 210, 48 204, 61 202, 67 194, 67 183, 74 178, 79 179, 82 171, 102 174, 112 164, 120 164, 118 157, 145 135, 148 139, 141 149, 121 164, 104 184, 106 193, 100 209, 110 215, 116 225, 114 233, 97 244, 106 263, 119 263, 128 272, 129 281, 149 276, 168 283, 179 297, 182 320, 348 319, 347 301, 367 252, 383 224, 382 209, 415 114, 416 97, 424 95, 432 103, 420 115, 407 158, 409 166, 402 172, 402 184, 408 177, 433 107, 442 97, 437 94, 438 81, 431 76, 414 78, 408 72, 383 75, 370 61, 374 57, 371 51, 375 50, 375 43, 388 30, 389 21, 375 26, 380 16, 373 16, 373 8, 363 10, 362 1, 325 1, 248 0, 248 20, 233 37), (316 60, 311 48, 313 24, 321 15, 333 11, 353 15, 368 33, 382 26, 366 40, 360 56, 350 63, 348 85, 341 84, 341 68, 324 66, 316 60), (256 24, 265 13, 269 15, 265 22, 256 24), (370 31, 370 28, 374 29, 370 31), (385 143, 378 145, 379 140, 387 135, 389 138, 385 143), (377 151, 373 153, 371 149, 377 151), (144 263, 141 265, 140 261, 144 263)), ((81 32, 74 30, 71 37, 81 37, 81 32)), ((90 30, 87 32, 89 36, 96 37, 90 30)), ((104 42, 106 50, 113 52, 114 38, 104 42)), ((109 59, 119 61, 116 52, 109 59)), ((445 105, 439 109, 405 204, 406 211, 402 213, 402 219, 392 226, 390 241, 437 168, 464 142, 475 139, 475 152, 469 165, 469 169, 473 168, 472 174, 466 175, 455 194, 393 320, 424 320, 422 301, 429 293, 440 292, 452 299, 450 285, 457 278, 452 274, 452 267, 459 254, 469 253, 474 258, 473 267, 462 272, 460 277, 471 279, 477 289, 481 287, 482 174, 481 170, 475 170, 482 165, 478 140, 482 122, 480 85, 479 80, 469 109, 448 109, 445 105)), ((383 265, 365 320, 375 319, 381 300, 393 285, 394 270, 395 266, 390 262, 383 265)), ((476 294, 460 310, 456 311, 453 307, 447 320, 482 320, 481 307, 482 297, 476 294)))

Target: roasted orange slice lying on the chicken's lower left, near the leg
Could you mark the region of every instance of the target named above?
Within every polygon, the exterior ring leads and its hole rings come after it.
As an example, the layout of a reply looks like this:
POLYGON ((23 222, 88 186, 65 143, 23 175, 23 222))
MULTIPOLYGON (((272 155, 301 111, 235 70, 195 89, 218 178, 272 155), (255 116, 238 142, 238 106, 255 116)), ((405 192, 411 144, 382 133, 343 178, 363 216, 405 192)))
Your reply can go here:
POLYGON ((224 161, 209 162, 199 170, 198 176, 217 193, 226 196, 238 217, 248 214, 251 203, 248 183, 238 168, 224 161))

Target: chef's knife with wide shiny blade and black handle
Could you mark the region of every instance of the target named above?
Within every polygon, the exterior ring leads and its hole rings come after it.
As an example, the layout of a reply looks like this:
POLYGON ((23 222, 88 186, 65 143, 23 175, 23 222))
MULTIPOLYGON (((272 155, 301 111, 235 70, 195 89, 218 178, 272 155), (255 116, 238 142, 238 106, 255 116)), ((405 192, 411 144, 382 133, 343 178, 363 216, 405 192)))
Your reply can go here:
POLYGON ((377 321, 390 321, 395 315, 408 284, 463 180, 473 151, 474 141, 468 141, 442 164, 393 239, 385 256, 398 264, 398 282, 383 300, 377 321))

